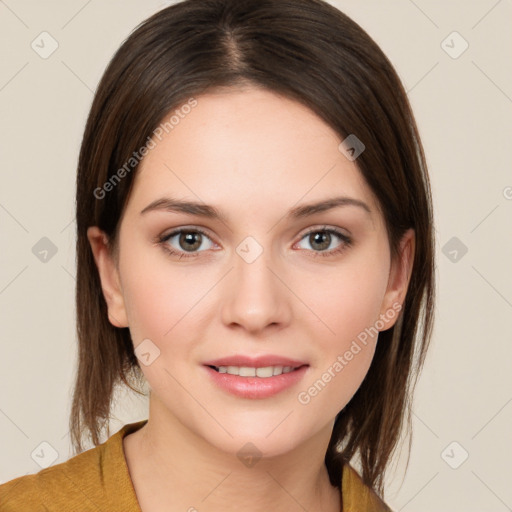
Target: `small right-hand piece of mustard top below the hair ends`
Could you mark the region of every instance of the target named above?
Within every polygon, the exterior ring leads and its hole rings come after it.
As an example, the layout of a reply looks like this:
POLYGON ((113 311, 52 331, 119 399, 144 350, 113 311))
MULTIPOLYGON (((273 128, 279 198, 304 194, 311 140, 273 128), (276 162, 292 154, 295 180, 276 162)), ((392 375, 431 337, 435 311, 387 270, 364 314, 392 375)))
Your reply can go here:
POLYGON ((349 464, 343 466, 341 482, 343 512, 393 512, 349 464))

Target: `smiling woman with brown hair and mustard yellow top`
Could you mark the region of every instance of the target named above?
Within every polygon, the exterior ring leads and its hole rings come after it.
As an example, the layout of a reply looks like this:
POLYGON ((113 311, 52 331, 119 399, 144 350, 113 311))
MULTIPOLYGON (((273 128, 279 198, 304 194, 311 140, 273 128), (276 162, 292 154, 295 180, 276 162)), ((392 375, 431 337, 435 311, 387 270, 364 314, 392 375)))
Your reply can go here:
POLYGON ((433 220, 405 91, 357 24, 320 0, 158 12, 99 84, 76 201, 70 430, 96 447, 0 510, 389 510, 433 220), (143 382, 149 418, 100 444, 115 386, 143 382))

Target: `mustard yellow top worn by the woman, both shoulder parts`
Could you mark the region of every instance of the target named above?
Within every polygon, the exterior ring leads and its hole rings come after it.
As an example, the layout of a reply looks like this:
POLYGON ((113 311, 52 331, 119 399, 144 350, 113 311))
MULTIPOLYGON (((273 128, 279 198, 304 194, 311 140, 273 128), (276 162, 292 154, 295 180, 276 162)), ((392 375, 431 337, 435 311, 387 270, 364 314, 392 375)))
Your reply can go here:
MULTIPOLYGON (((129 423, 66 462, 0 485, 0 512, 142 512, 123 438, 146 422, 129 423)), ((348 464, 343 467, 342 497, 341 512, 391 512, 348 464)))

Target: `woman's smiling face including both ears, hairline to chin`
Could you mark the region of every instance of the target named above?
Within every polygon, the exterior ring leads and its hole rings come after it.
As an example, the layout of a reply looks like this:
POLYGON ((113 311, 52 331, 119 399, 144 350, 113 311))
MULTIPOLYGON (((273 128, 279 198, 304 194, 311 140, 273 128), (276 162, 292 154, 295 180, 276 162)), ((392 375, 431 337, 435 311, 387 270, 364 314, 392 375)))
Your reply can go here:
POLYGON ((89 229, 110 321, 161 421, 231 453, 328 440, 396 321, 413 238, 392 263, 357 160, 306 107, 256 88, 196 100, 139 166, 118 261, 89 229))

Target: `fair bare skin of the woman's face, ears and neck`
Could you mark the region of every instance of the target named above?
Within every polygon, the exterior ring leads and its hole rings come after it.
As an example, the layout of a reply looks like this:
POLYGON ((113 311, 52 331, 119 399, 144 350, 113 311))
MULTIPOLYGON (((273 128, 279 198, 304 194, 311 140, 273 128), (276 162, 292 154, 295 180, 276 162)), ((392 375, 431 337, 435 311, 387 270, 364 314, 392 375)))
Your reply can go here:
MULTIPOLYGON (((389 311, 407 291, 414 233, 391 261, 384 219, 357 160, 339 151, 340 137, 306 107, 254 87, 197 101, 142 161, 121 219, 118 258, 101 230, 88 230, 111 323, 129 327, 135 348, 150 339, 160 350, 141 364, 151 389, 149 421, 124 439, 137 498, 144 512, 337 511, 339 491, 324 456, 377 337, 360 344, 308 404, 297 397, 382 315, 380 330, 394 324, 389 311), (345 205, 285 218, 298 205, 339 195, 364 201, 371 213, 345 205), (140 213, 164 196, 213 205, 226 220, 140 213), (352 244, 315 257, 321 239, 315 244, 306 233, 324 226, 339 228, 352 244), (195 256, 170 256, 156 241, 194 227, 208 235, 197 235, 195 256), (263 250, 252 263, 236 252, 247 236, 263 250), (273 397, 240 398, 216 387, 202 367, 233 354, 278 354, 309 368, 273 397), (252 467, 237 457, 249 441, 262 454, 252 467)), ((166 243, 187 254, 179 235, 166 243)), ((332 235, 324 253, 343 245, 332 235)))

